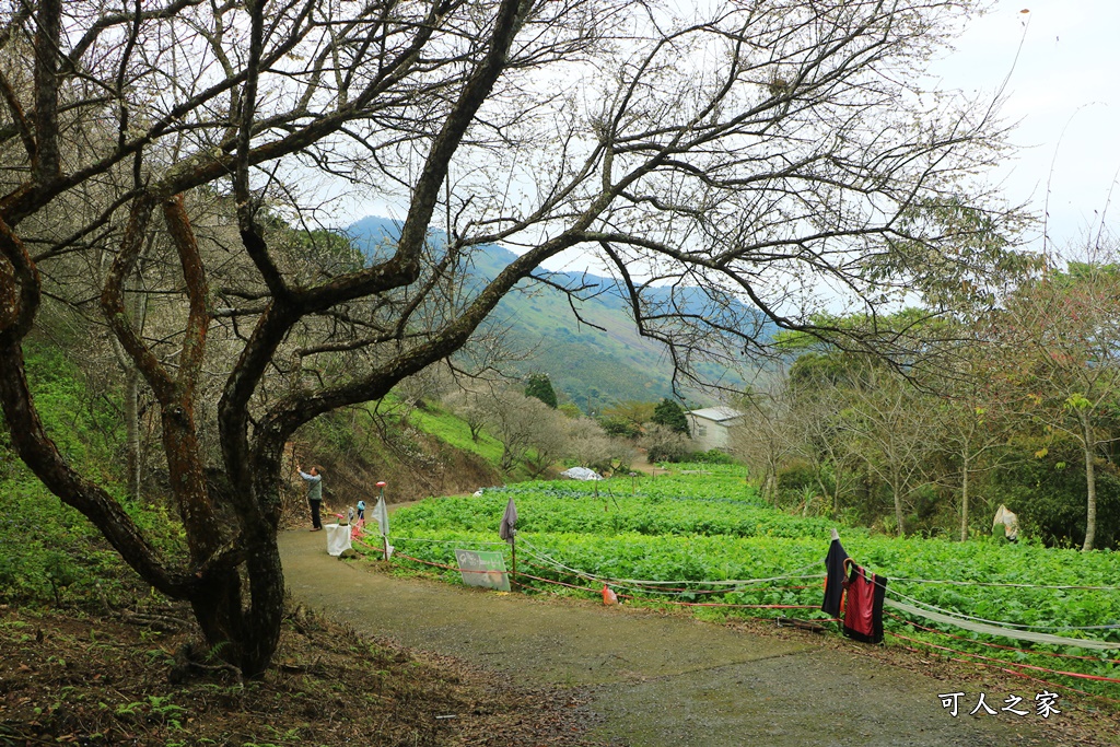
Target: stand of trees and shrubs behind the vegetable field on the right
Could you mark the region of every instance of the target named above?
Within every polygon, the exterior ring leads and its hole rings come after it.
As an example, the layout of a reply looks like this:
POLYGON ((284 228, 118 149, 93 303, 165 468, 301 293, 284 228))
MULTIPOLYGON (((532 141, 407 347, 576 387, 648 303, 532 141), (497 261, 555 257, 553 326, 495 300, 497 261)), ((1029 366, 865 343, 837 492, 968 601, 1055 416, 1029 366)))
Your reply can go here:
POLYGON ((1002 505, 1018 539, 1114 549, 1118 299, 1117 264, 1070 262, 974 318, 881 319, 928 335, 921 355, 787 335, 790 365, 743 405, 736 454, 771 501, 885 532, 965 541, 993 532, 1002 505))

